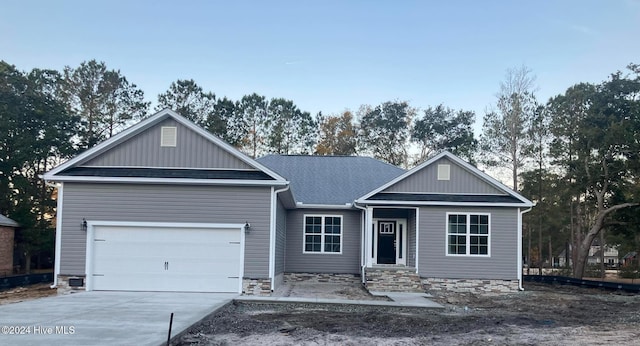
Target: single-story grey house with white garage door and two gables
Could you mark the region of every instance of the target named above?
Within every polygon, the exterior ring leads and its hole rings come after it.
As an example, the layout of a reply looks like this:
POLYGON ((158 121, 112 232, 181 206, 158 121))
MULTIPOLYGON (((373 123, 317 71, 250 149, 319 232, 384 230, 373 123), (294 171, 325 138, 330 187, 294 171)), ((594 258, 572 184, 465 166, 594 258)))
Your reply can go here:
POLYGON ((269 294, 283 280, 516 290, 532 203, 448 152, 253 160, 163 110, 46 173, 62 289, 269 294))

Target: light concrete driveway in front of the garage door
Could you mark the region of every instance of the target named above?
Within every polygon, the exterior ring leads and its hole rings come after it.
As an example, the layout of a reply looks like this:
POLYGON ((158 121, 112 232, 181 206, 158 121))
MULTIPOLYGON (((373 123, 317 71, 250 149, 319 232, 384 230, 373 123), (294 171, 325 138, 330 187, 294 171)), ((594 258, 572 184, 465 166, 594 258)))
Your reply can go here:
POLYGON ((174 336, 237 296, 92 291, 0 305, 0 345, 161 345, 172 312, 174 336))

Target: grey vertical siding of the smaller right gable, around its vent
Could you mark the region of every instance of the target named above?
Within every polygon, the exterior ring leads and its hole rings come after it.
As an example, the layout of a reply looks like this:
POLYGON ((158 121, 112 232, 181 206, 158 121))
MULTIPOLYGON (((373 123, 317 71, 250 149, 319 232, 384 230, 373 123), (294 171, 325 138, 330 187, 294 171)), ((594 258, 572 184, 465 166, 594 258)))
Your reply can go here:
POLYGON ((382 192, 500 194, 505 192, 446 157, 424 167, 382 192), (450 166, 450 180, 438 180, 438 165, 450 166))

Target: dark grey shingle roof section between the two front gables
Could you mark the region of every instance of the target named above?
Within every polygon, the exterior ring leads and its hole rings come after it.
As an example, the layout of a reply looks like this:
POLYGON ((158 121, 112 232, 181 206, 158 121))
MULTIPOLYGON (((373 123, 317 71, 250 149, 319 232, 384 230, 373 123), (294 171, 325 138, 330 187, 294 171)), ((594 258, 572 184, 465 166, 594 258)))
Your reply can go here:
POLYGON ((268 155, 258 162, 291 182, 296 202, 343 205, 405 173, 370 157, 268 155))

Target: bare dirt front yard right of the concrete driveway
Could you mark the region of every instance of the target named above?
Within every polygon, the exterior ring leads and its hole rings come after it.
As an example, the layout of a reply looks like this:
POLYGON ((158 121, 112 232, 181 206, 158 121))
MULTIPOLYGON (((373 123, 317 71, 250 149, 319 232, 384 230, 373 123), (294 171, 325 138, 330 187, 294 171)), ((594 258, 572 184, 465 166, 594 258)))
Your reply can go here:
POLYGON ((443 294, 438 310, 230 304, 177 345, 640 345, 640 295, 527 283, 443 294))

